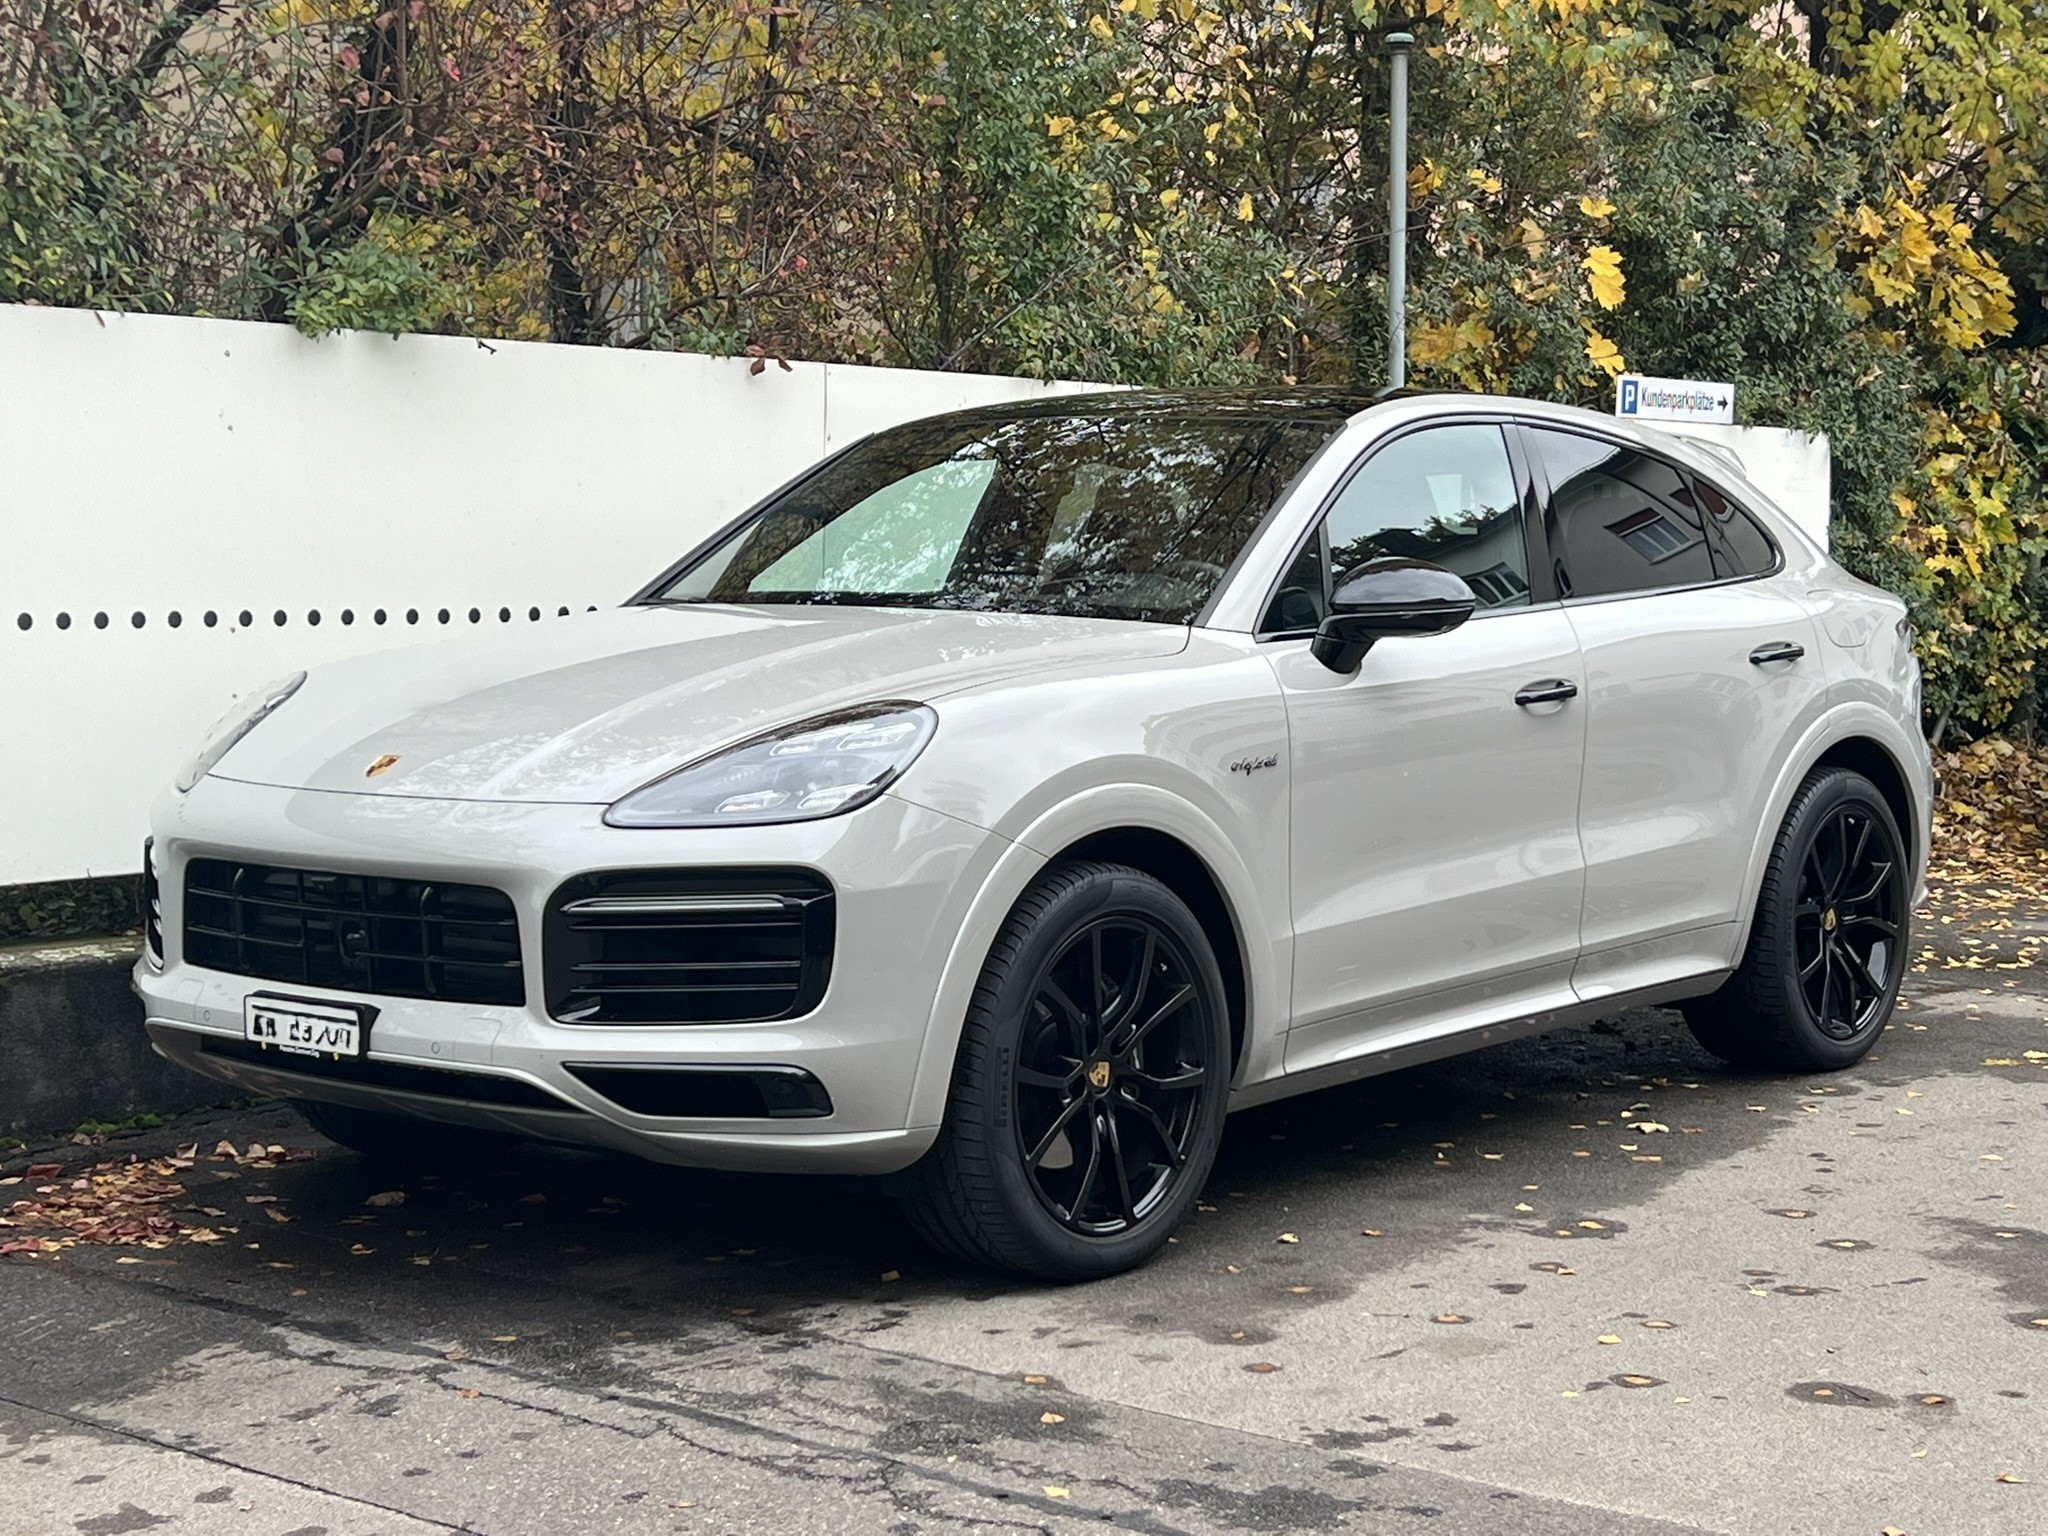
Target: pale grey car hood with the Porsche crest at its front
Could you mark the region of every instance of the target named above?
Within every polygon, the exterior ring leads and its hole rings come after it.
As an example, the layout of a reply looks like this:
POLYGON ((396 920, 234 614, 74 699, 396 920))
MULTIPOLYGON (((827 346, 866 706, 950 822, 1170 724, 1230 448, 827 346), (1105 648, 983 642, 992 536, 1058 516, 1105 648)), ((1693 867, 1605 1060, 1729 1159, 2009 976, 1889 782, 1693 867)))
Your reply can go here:
POLYGON ((637 606, 313 672, 213 776, 285 788, 610 805, 717 748, 881 698, 1171 655, 1106 618, 827 606, 637 606), (393 758, 371 776, 371 766, 393 758))

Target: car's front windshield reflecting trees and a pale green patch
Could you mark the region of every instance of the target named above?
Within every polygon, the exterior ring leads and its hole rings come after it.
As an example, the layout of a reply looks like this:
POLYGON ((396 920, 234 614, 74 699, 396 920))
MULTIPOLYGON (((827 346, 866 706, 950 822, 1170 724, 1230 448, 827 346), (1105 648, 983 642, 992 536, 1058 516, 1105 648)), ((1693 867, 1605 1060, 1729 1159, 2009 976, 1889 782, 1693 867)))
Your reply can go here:
POLYGON ((657 602, 848 602, 1188 623, 1335 422, 1102 412, 856 444, 657 602))

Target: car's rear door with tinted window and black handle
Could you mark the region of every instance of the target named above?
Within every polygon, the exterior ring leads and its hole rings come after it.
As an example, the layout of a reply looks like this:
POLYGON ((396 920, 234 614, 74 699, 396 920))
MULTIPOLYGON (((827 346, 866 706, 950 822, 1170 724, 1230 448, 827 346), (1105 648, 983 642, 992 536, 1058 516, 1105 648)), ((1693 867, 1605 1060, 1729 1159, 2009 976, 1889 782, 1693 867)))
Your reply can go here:
POLYGON ((1733 963, 1759 819, 1827 680, 1776 545, 1722 492, 1595 434, 1524 438, 1585 657, 1573 987, 1597 999, 1733 963))

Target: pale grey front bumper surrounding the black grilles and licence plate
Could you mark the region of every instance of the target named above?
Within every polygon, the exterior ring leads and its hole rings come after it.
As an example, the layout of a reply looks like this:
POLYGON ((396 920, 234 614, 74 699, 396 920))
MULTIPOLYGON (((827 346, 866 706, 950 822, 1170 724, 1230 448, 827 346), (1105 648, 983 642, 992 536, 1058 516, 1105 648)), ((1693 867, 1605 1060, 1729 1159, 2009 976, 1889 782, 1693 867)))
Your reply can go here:
POLYGON ((909 1122, 938 981, 969 901, 1008 844, 889 795, 844 817, 731 831, 627 831, 600 817, 596 805, 424 801, 221 778, 166 797, 152 817, 166 952, 162 965, 145 956, 135 969, 150 1036, 170 1061, 254 1094, 319 1098, 666 1163, 887 1174, 915 1161, 938 1133, 936 1124, 909 1122), (518 911, 526 1004, 383 997, 190 965, 180 936, 184 866, 193 858, 496 887, 518 911), (813 868, 836 889, 831 979, 815 1010, 768 1024, 561 1024, 547 1016, 541 918, 565 879, 588 870, 762 864, 813 868), (410 1073, 408 1085, 395 1087, 322 1077, 303 1059, 248 1061, 209 1051, 209 1042, 242 1038, 252 991, 371 1004, 377 1018, 369 1061, 428 1073, 410 1073), (801 1067, 825 1085, 834 1110, 803 1120, 635 1114, 569 1073, 569 1063, 801 1067), (422 1092, 422 1079, 434 1087, 422 1092), (524 1087, 510 1092, 506 1081, 524 1087))

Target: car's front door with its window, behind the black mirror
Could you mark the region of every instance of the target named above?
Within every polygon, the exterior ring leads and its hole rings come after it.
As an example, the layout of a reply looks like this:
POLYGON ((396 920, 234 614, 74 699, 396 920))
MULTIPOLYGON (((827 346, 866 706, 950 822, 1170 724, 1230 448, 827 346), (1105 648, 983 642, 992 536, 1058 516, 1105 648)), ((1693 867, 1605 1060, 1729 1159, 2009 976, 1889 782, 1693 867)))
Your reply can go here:
POLYGON ((1532 510, 1499 424, 1405 434, 1352 475, 1274 600, 1270 629, 1307 629, 1331 573, 1386 555, 1479 596, 1460 629, 1380 641, 1352 676, 1272 641, 1292 764, 1288 1071, 1571 1001, 1581 662, 1546 569, 1532 590, 1532 510))

